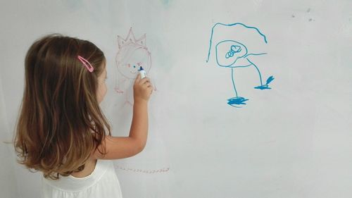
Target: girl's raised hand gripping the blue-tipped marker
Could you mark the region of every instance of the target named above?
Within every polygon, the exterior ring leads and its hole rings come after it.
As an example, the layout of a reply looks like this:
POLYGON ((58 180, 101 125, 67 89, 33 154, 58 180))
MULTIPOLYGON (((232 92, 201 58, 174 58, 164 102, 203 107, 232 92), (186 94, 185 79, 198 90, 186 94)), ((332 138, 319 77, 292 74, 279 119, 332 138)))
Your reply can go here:
POLYGON ((151 93, 153 92, 153 85, 149 78, 141 79, 141 75, 138 74, 133 85, 133 97, 134 102, 138 101, 149 101, 151 93))

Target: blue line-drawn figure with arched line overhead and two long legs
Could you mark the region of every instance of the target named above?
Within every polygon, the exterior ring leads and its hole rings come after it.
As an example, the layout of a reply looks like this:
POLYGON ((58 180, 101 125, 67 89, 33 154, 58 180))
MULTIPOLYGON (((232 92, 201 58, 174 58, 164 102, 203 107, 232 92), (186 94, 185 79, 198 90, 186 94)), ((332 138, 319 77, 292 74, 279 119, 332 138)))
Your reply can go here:
POLYGON ((258 63, 256 63, 256 61, 253 61, 252 58, 254 56, 263 56, 267 53, 265 53, 264 51, 253 52, 253 44, 252 47, 249 47, 249 43, 251 43, 253 39, 245 39, 248 35, 253 35, 253 37, 258 38, 256 39, 257 44, 258 42, 260 44, 268 44, 265 35, 263 35, 263 33, 260 32, 257 27, 250 27, 244 25, 243 23, 215 23, 215 25, 213 25, 211 29, 208 58, 206 59, 206 63, 208 63, 210 58, 210 52, 214 45, 213 42, 215 42, 215 49, 213 49, 213 51, 215 50, 216 64, 220 67, 231 69, 231 80, 232 87, 234 89, 234 97, 227 99, 227 104, 237 108, 246 105, 245 101, 248 101, 249 99, 246 99, 246 97, 241 97, 239 92, 237 92, 236 81, 234 79, 234 68, 246 68, 249 66, 253 66, 254 68, 256 68, 256 75, 258 75, 258 86, 254 87, 255 89, 271 89, 271 87, 269 87, 269 84, 270 82, 272 82, 272 80, 274 80, 274 77, 270 76, 265 82, 263 82, 262 75, 257 66, 258 63), (222 35, 220 37, 217 37, 217 40, 215 41, 215 27, 224 27, 225 29, 232 29, 232 32, 231 34, 224 34, 226 36, 222 35))

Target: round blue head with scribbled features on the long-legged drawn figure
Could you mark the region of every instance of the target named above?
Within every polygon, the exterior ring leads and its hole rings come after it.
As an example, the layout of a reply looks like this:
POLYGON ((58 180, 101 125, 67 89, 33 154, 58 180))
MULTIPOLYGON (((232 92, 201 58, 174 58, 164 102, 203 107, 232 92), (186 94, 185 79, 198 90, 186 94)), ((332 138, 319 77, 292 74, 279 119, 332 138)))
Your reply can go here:
POLYGON ((244 44, 232 40, 219 42, 216 47, 216 61, 221 67, 235 67, 239 58, 244 58, 247 49, 244 44))

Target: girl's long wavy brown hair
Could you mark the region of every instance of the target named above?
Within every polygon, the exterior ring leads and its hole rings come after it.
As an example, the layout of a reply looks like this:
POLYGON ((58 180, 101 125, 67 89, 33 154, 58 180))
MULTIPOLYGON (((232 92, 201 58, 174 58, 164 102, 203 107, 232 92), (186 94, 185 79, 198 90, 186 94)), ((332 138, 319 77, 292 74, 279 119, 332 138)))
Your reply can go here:
POLYGON ((32 44, 15 134, 19 163, 51 179, 83 170, 92 151, 111 135, 96 98, 104 67, 103 52, 86 40, 47 35, 32 44), (77 56, 94 71, 89 73, 77 56))

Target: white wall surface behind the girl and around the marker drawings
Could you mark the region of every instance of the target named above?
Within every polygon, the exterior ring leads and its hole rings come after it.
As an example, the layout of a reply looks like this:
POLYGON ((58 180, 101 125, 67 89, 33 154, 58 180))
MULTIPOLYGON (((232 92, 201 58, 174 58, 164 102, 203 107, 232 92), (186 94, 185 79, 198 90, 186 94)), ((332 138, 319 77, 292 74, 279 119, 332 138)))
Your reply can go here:
POLYGON ((0 197, 39 197, 40 173, 15 162, 11 141, 27 49, 48 33, 88 39, 106 54, 101 104, 113 135, 132 109, 113 88, 117 36, 146 34, 151 78, 149 142, 115 161, 124 197, 352 197, 352 1, 2 1, 0 7, 0 197), (258 59, 270 90, 253 87, 208 55, 215 23, 244 23, 268 38, 258 59), (131 168, 125 171, 122 168, 131 168), (133 170, 163 173, 136 173, 133 170))

